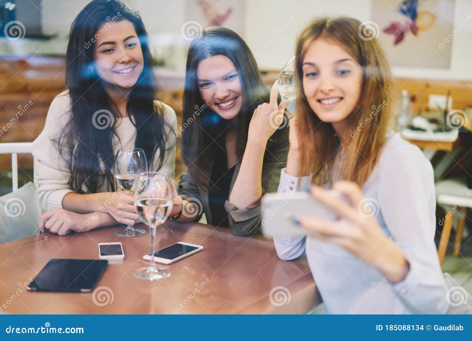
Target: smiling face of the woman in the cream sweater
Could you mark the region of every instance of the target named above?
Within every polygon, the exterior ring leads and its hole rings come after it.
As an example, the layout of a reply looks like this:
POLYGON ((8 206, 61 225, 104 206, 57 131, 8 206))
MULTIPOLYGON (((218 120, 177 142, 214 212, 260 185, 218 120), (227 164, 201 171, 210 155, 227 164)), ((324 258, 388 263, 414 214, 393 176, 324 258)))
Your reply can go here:
POLYGON ((128 20, 102 25, 96 36, 93 59, 100 78, 118 88, 135 86, 144 61, 134 25, 128 20))

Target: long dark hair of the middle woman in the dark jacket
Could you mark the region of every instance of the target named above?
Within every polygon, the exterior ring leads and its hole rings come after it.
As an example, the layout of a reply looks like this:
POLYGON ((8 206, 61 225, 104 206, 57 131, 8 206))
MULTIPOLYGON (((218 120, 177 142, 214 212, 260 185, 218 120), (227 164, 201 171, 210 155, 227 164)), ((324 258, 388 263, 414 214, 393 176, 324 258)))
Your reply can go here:
POLYGON ((243 89, 241 112, 231 122, 236 126, 236 154, 239 159, 246 148, 254 110, 268 97, 253 53, 236 32, 226 27, 209 27, 192 41, 185 71, 182 121, 185 129, 182 131, 181 155, 190 175, 202 188, 208 186, 202 171, 209 170, 210 155, 219 148, 213 139, 229 124, 222 122, 226 120, 203 102, 196 77, 200 61, 217 55, 226 56, 233 62, 243 89))

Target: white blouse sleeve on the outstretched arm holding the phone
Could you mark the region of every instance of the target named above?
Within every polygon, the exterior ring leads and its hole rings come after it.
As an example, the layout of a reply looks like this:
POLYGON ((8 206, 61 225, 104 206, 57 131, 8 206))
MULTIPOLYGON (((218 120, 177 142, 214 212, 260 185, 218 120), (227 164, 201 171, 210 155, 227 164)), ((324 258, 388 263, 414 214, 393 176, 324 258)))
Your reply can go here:
POLYGON ((435 191, 430 162, 418 148, 393 151, 380 168, 379 205, 385 224, 410 269, 392 284, 397 297, 416 314, 444 314, 447 285, 434 244, 435 191))

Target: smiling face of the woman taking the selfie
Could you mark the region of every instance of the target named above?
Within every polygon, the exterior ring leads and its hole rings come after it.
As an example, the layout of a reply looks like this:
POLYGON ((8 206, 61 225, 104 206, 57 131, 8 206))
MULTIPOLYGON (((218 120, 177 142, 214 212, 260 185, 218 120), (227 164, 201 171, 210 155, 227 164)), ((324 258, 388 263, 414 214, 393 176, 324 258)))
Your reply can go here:
MULTIPOLYGON (((324 122, 342 122, 359 102, 362 67, 338 43, 317 39, 303 58, 303 91, 324 122)), ((336 127, 335 127, 336 128, 336 127)))

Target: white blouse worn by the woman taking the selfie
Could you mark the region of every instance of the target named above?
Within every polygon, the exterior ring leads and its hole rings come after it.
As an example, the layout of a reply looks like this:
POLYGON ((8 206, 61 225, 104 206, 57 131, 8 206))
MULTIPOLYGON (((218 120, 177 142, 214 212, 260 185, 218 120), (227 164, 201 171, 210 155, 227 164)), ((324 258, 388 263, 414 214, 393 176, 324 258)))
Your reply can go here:
MULTIPOLYGON (((278 192, 293 192, 299 179, 280 175, 278 192)), ((300 179, 308 191, 311 178, 300 179)), ((362 187, 380 227, 410 264, 405 279, 390 283, 347 250, 311 236, 274 238, 278 257, 306 252, 313 278, 331 314, 445 314, 447 285, 434 243, 436 198, 430 162, 399 133, 386 142, 378 163, 362 187)))

